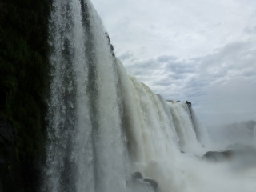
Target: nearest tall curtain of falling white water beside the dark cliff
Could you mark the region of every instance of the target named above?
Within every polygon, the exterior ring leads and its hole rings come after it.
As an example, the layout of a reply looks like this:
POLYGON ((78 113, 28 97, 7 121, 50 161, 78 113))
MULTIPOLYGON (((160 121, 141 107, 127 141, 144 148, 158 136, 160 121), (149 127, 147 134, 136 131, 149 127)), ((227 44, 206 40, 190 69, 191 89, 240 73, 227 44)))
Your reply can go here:
POLYGON ((54 1, 44 190, 124 189, 118 76, 103 31, 90 2, 54 1))

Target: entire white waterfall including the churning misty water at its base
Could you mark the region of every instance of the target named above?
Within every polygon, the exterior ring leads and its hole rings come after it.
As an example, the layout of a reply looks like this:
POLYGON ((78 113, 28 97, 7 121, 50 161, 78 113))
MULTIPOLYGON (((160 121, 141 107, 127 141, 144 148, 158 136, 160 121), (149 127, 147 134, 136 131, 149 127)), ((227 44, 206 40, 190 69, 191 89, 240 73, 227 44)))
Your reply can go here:
POLYGON ((54 0, 49 42, 49 139, 41 191, 255 189, 254 172, 242 173, 249 178, 244 186, 225 163, 202 160, 206 130, 186 102, 166 102, 126 74, 90 1, 54 0), (151 184, 134 178, 135 172, 151 184))

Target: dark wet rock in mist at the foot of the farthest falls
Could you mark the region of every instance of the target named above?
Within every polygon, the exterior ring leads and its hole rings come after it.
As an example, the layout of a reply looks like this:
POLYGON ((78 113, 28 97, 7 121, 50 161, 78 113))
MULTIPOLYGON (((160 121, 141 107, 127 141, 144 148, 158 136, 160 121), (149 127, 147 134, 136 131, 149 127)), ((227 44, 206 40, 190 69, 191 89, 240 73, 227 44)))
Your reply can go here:
POLYGON ((233 150, 226 150, 226 151, 208 151, 206 154, 202 156, 202 158, 214 161, 214 162, 220 162, 224 160, 228 160, 234 156, 233 150))

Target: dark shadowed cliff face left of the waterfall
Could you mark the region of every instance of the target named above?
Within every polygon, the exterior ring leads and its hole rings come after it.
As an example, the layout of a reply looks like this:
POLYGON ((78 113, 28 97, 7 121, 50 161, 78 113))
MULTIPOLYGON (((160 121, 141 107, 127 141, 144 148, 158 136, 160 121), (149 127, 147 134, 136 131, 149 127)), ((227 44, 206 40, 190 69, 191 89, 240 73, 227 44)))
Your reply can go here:
POLYGON ((38 191, 50 0, 0 0, 0 191, 38 191))

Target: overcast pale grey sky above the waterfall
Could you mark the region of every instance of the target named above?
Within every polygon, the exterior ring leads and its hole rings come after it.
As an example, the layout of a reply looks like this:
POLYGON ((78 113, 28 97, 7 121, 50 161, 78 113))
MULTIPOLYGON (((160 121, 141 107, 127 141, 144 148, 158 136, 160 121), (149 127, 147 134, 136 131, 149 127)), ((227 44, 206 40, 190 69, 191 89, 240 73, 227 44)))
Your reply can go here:
POLYGON ((92 0, 129 74, 208 126, 256 120, 255 0, 92 0))

